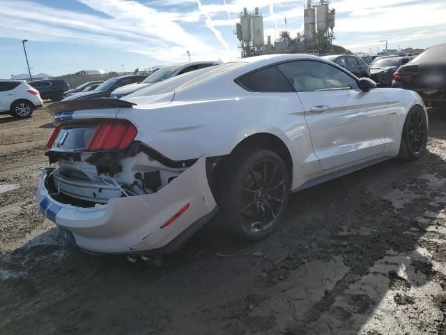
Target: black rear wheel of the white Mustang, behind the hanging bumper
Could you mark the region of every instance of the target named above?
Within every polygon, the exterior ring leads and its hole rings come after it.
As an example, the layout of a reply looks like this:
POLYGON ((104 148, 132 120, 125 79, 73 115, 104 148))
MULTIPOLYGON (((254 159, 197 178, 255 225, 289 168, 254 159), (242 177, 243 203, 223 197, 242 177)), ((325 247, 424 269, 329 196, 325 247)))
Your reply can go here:
POLYGON ((250 148, 233 157, 222 214, 242 237, 257 240, 274 230, 289 198, 289 174, 275 152, 250 148))

